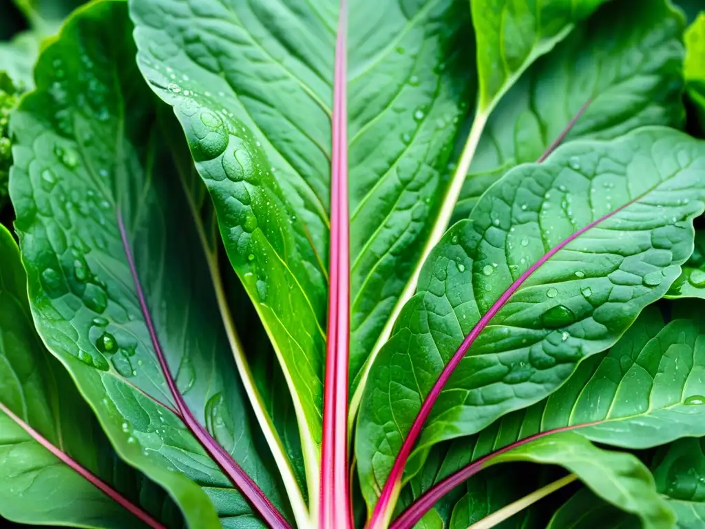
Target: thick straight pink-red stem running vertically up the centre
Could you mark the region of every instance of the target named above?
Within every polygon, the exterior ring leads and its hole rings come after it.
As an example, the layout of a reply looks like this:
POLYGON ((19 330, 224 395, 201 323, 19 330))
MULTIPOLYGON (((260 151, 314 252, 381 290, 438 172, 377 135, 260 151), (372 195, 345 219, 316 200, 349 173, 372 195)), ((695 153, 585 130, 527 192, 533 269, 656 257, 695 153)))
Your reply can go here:
POLYGON ((328 341, 321 446, 321 529, 353 527, 348 482, 350 221, 348 212, 347 3, 341 0, 333 85, 328 341))

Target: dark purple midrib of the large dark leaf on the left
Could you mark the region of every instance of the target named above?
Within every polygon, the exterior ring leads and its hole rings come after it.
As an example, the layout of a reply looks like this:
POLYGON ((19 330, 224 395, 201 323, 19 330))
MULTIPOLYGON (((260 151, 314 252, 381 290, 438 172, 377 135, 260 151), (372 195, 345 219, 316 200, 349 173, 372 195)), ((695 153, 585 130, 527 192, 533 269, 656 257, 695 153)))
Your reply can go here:
POLYGON ((204 427, 202 427, 200 422, 198 422, 198 420, 191 413, 191 410, 184 401, 183 396, 181 396, 178 391, 176 381, 171 375, 171 370, 169 370, 168 363, 166 362, 164 351, 161 349, 161 343, 159 343, 157 331, 154 329, 152 315, 149 312, 149 307, 147 306, 145 293, 142 291, 140 278, 137 276, 135 258, 133 257, 132 248, 130 247, 130 242, 128 241, 127 231, 125 230, 125 223, 123 222, 123 217, 120 212, 118 212, 118 229, 120 229, 120 236, 123 241, 125 256, 127 257, 128 264, 130 265, 130 273, 133 276, 137 299, 140 301, 140 308, 142 309, 142 315, 145 318, 145 324, 147 324, 149 337, 152 339, 152 346, 154 346, 154 352, 157 353, 157 360, 159 360, 159 365, 161 366, 161 371, 164 374, 164 379, 166 379, 166 384, 168 385, 169 391, 171 391, 171 396, 173 397, 176 407, 181 415, 180 419, 188 427, 194 437, 198 439, 198 442, 200 442, 221 470, 223 470, 223 473, 228 476, 228 479, 231 480, 233 485, 235 485, 235 487, 243 493, 243 495, 247 498, 247 501, 249 501, 252 505, 252 508, 259 513, 259 516, 262 516, 269 527, 290 528, 290 525, 287 523, 286 519, 279 511, 277 511, 276 507, 271 504, 271 501, 269 501, 269 499, 265 496, 264 492, 257 487, 255 481, 247 475, 245 470, 240 468, 238 463, 235 463, 231 455, 228 454, 228 452, 223 449, 223 447, 220 446, 218 442, 213 439, 213 437, 211 437, 211 434, 209 434, 204 427))

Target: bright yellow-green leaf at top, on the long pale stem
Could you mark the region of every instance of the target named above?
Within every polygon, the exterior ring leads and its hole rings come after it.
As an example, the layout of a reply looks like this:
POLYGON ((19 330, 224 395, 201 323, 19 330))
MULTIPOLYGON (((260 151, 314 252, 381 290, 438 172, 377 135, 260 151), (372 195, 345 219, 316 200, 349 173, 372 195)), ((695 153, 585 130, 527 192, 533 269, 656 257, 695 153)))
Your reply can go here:
POLYGON ((604 0, 474 0, 479 113, 498 99, 539 56, 551 51, 604 0))

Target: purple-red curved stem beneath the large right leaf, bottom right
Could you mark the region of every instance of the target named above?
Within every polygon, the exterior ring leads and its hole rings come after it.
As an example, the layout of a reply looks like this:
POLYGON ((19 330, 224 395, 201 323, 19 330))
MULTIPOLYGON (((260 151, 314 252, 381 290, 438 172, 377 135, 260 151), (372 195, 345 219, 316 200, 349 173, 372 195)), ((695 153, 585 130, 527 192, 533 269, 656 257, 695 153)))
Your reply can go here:
POLYGON ((527 444, 529 442, 535 441, 536 439, 540 439, 541 437, 546 437, 550 434, 556 434, 558 432, 567 432, 568 430, 576 430, 577 428, 594 426, 599 424, 600 422, 601 421, 586 422, 581 425, 564 426, 560 428, 555 428, 554 430, 547 430, 546 432, 530 435, 526 439, 521 439, 520 441, 509 444, 508 446, 505 446, 504 448, 493 452, 492 454, 488 454, 487 456, 479 458, 477 461, 473 461, 472 463, 470 463, 470 465, 461 468, 460 470, 458 470, 458 472, 449 475, 448 478, 439 481, 427 492, 422 494, 419 499, 414 501, 414 503, 408 506, 407 509, 399 515, 399 517, 394 521, 394 523, 392 523, 389 529, 412 528, 421 518, 423 518, 424 514, 426 514, 431 509, 431 507, 436 504, 436 501, 439 501, 439 499, 448 494, 448 492, 453 490, 465 480, 472 478, 472 476, 477 474, 483 468, 491 466, 493 464, 491 460, 496 458, 497 456, 505 454, 505 452, 508 452, 511 449, 515 449, 517 446, 522 446, 522 444, 527 444))

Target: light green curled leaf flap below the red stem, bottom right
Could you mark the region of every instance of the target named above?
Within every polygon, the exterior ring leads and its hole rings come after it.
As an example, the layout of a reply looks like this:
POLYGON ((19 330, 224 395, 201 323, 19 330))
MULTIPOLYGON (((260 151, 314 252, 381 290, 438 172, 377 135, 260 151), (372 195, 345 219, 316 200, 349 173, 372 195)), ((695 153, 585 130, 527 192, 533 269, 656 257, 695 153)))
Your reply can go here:
POLYGON ((654 476, 632 454, 602 450, 574 432, 561 432, 518 446, 487 464, 510 461, 563 466, 604 501, 638 516, 644 529, 674 526, 673 510, 656 492, 654 476))

